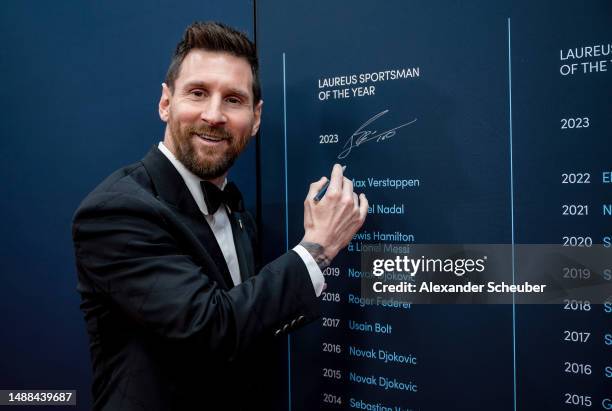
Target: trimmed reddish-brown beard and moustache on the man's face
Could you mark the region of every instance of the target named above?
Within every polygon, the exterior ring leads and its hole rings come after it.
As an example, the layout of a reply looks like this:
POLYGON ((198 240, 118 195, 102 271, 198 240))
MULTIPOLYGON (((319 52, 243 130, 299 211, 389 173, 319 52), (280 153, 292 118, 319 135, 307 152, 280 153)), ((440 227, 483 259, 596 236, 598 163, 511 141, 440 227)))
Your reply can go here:
MULTIPOLYGON (((224 175, 242 152, 248 138, 236 138, 224 128, 207 125, 189 126, 184 129, 176 122, 170 121, 170 131, 176 147, 176 158, 202 180, 212 180, 224 175), (227 146, 198 147, 195 134, 206 134, 215 139, 225 140, 227 146)), ((224 144, 224 143, 221 143, 224 144)))

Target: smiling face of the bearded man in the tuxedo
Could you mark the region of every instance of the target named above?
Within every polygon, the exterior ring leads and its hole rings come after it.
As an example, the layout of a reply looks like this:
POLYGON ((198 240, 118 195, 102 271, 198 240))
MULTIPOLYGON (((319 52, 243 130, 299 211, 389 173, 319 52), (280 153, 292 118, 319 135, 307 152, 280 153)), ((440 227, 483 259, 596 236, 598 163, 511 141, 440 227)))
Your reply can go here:
POLYGON ((164 84, 159 114, 164 145, 204 180, 221 180, 257 133, 262 102, 253 101, 248 61, 224 52, 191 50, 173 90, 164 84))

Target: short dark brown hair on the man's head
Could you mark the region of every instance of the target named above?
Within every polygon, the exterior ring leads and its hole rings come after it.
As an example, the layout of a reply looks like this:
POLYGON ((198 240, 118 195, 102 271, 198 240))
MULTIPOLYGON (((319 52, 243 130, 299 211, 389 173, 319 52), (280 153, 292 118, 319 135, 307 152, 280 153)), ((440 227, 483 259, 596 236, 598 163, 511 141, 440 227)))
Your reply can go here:
POLYGON ((179 75, 185 56, 193 49, 225 52, 245 58, 251 66, 251 73, 253 73, 253 106, 261 100, 259 62, 255 45, 244 33, 222 23, 211 21, 196 21, 185 29, 183 38, 176 45, 170 67, 168 67, 166 73, 165 83, 170 87, 170 90, 174 90, 174 82, 179 75))

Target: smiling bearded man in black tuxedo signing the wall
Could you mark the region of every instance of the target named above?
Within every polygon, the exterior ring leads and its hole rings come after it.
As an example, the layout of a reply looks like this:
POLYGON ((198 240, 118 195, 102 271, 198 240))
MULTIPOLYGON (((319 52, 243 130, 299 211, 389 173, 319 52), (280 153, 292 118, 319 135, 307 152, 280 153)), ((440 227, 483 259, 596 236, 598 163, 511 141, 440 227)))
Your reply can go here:
POLYGON ((318 317, 321 270, 361 227, 368 202, 334 166, 321 201, 327 178, 310 186, 303 240, 258 270, 253 219, 226 176, 257 133, 262 104, 248 38, 192 24, 162 85, 163 141, 76 211, 95 410, 253 408, 274 392, 261 378, 266 348, 318 317))

